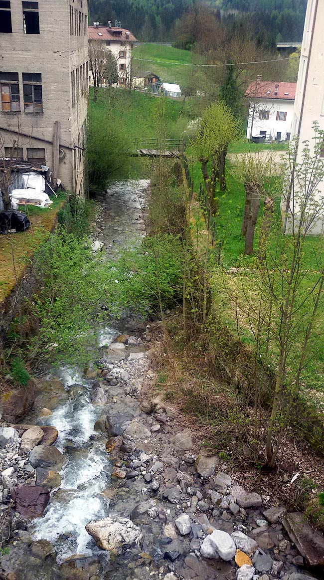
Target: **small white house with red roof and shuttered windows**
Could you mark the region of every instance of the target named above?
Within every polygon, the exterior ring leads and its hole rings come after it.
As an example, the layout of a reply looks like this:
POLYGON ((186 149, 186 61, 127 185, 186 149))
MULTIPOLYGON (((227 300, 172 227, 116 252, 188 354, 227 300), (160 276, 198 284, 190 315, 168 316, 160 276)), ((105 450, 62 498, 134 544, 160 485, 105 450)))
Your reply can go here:
POLYGON ((250 100, 246 136, 266 141, 289 141, 292 131, 296 82, 257 81, 245 96, 250 100))

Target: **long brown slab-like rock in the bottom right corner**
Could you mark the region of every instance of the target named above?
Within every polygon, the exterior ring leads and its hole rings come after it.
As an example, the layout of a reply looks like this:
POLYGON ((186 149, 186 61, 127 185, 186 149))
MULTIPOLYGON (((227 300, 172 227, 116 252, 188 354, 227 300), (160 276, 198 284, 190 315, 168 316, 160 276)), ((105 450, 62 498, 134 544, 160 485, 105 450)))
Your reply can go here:
POLYGON ((282 523, 298 552, 310 566, 324 567, 324 538, 315 532, 299 512, 287 514, 282 523))

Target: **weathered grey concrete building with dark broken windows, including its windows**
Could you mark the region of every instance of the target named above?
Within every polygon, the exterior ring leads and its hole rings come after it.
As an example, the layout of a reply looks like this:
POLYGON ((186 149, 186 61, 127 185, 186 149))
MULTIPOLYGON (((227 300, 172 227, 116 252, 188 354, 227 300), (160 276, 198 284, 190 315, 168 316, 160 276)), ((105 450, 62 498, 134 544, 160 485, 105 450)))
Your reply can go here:
POLYGON ((83 193, 88 0, 0 2, 0 157, 47 165, 83 193))

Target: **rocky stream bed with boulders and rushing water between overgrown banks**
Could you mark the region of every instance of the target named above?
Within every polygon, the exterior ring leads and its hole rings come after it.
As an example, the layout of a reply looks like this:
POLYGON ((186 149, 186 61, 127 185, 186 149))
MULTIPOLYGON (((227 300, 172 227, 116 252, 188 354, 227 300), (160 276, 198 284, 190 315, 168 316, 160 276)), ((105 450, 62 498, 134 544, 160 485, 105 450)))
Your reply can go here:
MULTIPOLYGON (((100 198, 107 252, 143 234, 146 186, 100 198)), ((25 423, 0 428, 0 578, 323 577, 322 536, 243 489, 149 395, 158 323, 130 316, 98 337, 99 359, 49 372, 25 423)))

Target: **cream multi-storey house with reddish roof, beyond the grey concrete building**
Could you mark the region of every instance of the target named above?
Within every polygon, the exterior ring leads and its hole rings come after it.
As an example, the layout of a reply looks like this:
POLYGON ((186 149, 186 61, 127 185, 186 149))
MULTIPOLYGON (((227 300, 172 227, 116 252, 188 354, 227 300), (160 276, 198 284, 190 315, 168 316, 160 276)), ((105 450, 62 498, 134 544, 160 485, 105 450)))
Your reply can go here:
MULTIPOLYGON (((120 24, 120 23, 116 23, 120 24)), ((94 22, 88 27, 89 42, 101 41, 106 50, 110 50, 117 61, 118 86, 131 86, 131 49, 136 38, 129 30, 120 26, 99 26, 94 22)), ((93 85, 92 74, 89 67, 89 84, 93 85)))

